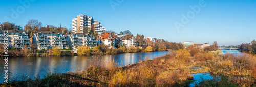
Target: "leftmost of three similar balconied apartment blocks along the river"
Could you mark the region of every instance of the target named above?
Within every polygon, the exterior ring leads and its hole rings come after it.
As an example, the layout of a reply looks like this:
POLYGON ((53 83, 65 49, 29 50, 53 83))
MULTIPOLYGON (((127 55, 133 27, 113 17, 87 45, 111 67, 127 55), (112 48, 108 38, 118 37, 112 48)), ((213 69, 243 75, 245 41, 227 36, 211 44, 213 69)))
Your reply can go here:
MULTIPOLYGON (((4 31, 0 31, 0 44, 4 44, 4 31)), ((23 48, 30 45, 28 33, 22 30, 8 30, 9 47, 23 48)))

